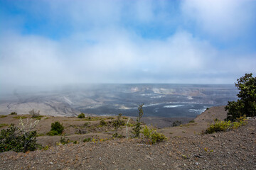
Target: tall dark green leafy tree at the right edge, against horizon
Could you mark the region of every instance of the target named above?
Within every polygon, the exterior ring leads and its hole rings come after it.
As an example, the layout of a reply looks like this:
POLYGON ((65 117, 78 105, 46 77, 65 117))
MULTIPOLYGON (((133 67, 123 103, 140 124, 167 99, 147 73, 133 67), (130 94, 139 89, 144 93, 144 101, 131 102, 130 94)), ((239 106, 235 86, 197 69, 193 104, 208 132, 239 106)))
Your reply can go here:
POLYGON ((256 77, 252 77, 252 73, 245 74, 235 83, 238 87, 238 101, 228 101, 225 111, 228 111, 227 120, 235 121, 242 115, 248 117, 256 116, 256 77))

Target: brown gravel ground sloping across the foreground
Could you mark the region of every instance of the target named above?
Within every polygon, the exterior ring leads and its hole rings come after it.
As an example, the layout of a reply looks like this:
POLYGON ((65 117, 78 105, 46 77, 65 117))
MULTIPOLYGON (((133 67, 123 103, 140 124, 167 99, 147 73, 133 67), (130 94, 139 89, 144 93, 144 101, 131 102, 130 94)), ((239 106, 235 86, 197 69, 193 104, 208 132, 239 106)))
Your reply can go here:
POLYGON ((60 145, 35 152, 0 153, 0 169, 256 169, 255 118, 211 135, 108 140, 60 145))

